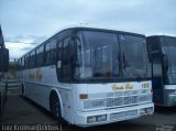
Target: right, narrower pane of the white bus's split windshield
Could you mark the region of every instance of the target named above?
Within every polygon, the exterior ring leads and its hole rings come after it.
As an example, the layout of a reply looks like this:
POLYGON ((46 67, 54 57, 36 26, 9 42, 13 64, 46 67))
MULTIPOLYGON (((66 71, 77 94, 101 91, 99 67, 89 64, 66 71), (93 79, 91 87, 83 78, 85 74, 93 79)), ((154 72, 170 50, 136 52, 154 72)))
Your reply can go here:
POLYGON ((124 77, 136 78, 147 76, 148 62, 145 39, 122 34, 119 35, 119 39, 122 47, 124 77))

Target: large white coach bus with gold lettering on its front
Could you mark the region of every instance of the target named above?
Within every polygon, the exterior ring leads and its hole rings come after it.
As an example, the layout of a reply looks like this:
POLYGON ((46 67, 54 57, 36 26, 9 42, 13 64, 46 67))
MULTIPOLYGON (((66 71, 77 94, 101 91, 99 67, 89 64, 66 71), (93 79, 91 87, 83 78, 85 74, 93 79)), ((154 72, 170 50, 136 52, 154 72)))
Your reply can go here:
POLYGON ((23 96, 59 121, 91 127, 152 114, 145 36, 70 28, 19 58, 23 96))

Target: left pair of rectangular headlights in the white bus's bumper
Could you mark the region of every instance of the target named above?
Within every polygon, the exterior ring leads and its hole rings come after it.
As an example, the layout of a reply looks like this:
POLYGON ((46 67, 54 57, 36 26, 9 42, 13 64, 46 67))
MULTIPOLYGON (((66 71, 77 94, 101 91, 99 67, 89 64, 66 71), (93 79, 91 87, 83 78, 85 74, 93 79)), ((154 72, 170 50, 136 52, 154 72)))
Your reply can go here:
POLYGON ((99 116, 90 116, 87 118, 87 123, 107 121, 107 114, 99 114, 99 116))

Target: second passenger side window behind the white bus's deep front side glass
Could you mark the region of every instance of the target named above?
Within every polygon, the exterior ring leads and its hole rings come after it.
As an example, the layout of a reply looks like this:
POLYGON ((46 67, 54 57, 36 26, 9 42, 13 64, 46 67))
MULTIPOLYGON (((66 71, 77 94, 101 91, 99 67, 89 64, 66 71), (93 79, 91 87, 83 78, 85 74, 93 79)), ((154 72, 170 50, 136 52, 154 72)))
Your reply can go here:
POLYGON ((36 50, 36 65, 42 65, 44 61, 44 46, 40 46, 36 50))

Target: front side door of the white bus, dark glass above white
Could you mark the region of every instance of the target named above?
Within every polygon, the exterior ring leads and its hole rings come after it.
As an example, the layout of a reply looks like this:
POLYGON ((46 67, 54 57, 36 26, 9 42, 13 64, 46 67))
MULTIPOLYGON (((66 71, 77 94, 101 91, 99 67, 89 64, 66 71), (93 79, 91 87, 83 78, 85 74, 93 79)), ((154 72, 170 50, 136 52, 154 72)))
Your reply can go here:
POLYGON ((73 94, 73 76, 74 76, 74 41, 66 37, 57 45, 57 63, 56 72, 58 81, 62 83, 59 88, 61 99, 63 100, 63 118, 73 123, 74 116, 74 94, 73 94), (62 90, 62 91, 61 91, 62 90))

